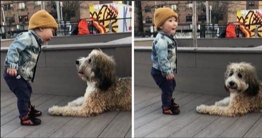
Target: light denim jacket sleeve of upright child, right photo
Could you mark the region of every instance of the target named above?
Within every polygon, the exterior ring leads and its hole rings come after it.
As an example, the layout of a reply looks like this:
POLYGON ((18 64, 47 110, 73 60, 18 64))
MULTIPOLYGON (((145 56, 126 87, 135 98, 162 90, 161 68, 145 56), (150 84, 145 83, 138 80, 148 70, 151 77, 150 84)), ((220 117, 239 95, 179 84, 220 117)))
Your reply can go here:
POLYGON ((167 42, 166 40, 160 38, 155 44, 155 50, 157 52, 157 59, 159 63, 159 68, 163 76, 172 74, 171 65, 167 59, 167 42))

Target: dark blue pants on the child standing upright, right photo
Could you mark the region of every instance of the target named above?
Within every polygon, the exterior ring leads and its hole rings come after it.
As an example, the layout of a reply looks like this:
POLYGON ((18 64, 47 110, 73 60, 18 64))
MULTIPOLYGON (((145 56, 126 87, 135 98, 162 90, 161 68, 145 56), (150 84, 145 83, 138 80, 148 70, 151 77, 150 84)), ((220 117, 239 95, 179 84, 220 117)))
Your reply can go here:
POLYGON ((160 87, 162 94, 162 105, 167 107, 171 104, 171 97, 176 86, 175 80, 167 80, 161 73, 160 70, 151 68, 151 75, 155 81, 155 83, 160 87))

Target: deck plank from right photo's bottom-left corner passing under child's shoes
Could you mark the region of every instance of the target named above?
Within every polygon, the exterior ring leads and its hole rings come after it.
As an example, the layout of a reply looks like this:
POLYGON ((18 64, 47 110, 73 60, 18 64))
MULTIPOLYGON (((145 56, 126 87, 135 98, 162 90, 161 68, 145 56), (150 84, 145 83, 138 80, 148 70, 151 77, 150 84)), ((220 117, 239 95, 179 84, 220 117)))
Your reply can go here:
MULTIPOLYGON (((137 129, 134 130, 135 137, 143 137, 147 134, 165 126, 169 122, 180 118, 182 115, 184 115, 186 112, 192 110, 195 108, 195 105, 198 105, 200 103, 204 103, 205 101, 209 100, 214 96, 212 95, 201 95, 200 97, 197 97, 196 99, 186 103, 184 106, 180 107, 180 113, 178 115, 164 115, 161 116, 137 129)), ((160 113, 160 112, 159 112, 160 113)))

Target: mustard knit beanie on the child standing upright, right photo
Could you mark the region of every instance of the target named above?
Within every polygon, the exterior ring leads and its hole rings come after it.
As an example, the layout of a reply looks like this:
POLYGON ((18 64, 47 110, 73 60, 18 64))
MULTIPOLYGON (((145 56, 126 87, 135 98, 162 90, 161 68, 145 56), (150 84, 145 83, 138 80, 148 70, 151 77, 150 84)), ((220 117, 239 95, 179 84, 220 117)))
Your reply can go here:
MULTIPOLYGON (((156 27, 156 29, 158 30, 158 28, 160 27, 160 25, 162 25, 164 23, 164 21, 166 19, 168 19, 169 17, 174 16, 177 20, 178 16, 177 13, 175 13, 171 8, 169 7, 161 7, 161 8, 157 8, 154 11, 154 15, 153 15, 153 22, 154 25, 156 27)), ((178 20, 177 20, 178 21, 178 20)))

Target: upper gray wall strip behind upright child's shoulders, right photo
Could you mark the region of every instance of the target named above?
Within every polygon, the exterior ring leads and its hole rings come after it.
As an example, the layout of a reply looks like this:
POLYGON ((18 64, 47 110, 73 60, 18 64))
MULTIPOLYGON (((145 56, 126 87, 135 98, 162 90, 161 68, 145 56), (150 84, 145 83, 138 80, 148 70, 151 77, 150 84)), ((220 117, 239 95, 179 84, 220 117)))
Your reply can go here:
MULTIPOLYGON (((176 38, 179 47, 192 47, 192 38, 176 38)), ((152 46, 153 38, 135 38, 135 46, 152 46)), ((249 47, 262 45, 262 38, 197 38, 198 47, 249 47)))

